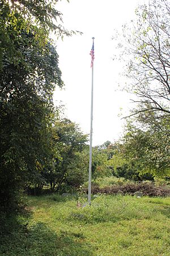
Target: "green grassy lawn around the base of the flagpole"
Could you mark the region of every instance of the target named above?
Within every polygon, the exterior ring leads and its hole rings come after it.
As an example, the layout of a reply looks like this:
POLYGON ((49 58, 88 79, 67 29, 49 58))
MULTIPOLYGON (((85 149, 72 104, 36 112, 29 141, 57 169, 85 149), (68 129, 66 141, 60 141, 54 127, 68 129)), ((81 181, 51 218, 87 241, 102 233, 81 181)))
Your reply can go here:
POLYGON ((169 197, 99 196, 78 208, 52 195, 28 197, 28 208, 27 228, 4 236, 0 255, 170 255, 169 197))

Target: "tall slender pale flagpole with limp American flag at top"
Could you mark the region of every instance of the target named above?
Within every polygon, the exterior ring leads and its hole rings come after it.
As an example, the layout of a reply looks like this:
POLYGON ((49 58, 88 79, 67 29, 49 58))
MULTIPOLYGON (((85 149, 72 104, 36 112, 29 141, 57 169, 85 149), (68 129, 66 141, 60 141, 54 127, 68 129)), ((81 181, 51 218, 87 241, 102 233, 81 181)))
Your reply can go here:
POLYGON ((91 205, 91 166, 92 166, 92 133, 93 133, 93 107, 94 107, 94 39, 92 44, 91 68, 92 68, 92 82, 91 82, 91 126, 90 126, 90 154, 89 154, 89 174, 88 174, 88 204, 91 205))

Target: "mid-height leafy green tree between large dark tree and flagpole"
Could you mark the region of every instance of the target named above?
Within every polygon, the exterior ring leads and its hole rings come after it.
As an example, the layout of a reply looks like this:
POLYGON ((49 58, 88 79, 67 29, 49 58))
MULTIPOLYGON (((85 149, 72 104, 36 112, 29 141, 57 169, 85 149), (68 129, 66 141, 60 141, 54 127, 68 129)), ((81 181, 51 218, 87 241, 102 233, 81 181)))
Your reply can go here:
POLYGON ((58 119, 54 123, 52 132, 57 157, 54 159, 54 168, 46 170, 45 179, 55 191, 59 191, 63 183, 79 187, 84 181, 79 153, 87 142, 87 135, 84 135, 78 125, 67 118, 58 119))

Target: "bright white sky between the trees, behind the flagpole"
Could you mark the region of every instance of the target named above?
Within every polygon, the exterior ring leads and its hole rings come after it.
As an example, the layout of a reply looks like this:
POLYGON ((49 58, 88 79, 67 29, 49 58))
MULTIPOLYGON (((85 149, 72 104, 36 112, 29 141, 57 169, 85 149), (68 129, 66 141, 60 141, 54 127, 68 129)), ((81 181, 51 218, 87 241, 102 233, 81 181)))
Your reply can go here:
POLYGON ((57 4, 65 28, 81 31, 83 35, 57 41, 65 89, 56 89, 54 101, 65 105, 65 116, 78 123, 86 134, 90 134, 90 51, 92 37, 95 38, 93 146, 120 138, 125 123, 122 117, 131 108, 129 94, 120 90, 125 84, 121 75, 124 67, 113 60, 117 49, 112 37, 115 30, 120 31, 124 23, 134 18, 138 3, 140 0, 62 0, 57 4))

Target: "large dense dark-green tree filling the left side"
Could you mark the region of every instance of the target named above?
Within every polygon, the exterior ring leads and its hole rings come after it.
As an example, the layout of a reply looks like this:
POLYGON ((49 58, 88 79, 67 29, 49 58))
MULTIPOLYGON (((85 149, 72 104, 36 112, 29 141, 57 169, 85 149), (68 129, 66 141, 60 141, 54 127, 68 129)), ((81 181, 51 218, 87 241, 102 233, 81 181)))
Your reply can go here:
MULTIPOLYGON (((15 212, 19 192, 52 155, 53 90, 62 88, 58 55, 49 32, 57 1, 3 1, 0 9, 0 210, 15 212), (27 18, 27 19, 26 19, 27 18)), ((67 33, 66 33, 67 34, 67 33)))

